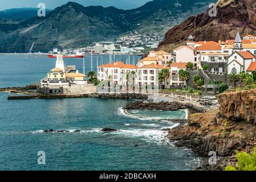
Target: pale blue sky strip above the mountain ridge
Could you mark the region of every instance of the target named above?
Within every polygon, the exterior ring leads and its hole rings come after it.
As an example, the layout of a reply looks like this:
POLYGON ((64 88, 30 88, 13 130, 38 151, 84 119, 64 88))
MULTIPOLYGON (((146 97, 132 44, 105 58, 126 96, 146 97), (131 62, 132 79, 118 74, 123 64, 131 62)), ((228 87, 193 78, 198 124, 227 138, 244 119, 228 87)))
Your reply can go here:
POLYGON ((55 9, 55 7, 64 5, 69 1, 77 2, 83 6, 115 6, 119 9, 127 10, 140 7, 152 0, 0 0, 0 10, 21 7, 37 7, 38 3, 44 3, 46 5, 46 9, 55 9))

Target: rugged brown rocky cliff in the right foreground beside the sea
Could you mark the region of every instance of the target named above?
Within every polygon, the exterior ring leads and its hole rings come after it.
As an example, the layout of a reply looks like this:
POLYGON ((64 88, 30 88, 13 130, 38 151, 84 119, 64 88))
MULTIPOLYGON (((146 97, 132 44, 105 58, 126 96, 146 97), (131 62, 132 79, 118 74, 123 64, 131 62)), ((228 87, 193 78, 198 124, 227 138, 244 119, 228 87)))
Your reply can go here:
POLYGON ((190 115, 184 127, 169 131, 168 138, 201 156, 217 152, 218 164, 206 162, 201 169, 222 170, 235 163, 235 150, 250 152, 256 145, 255 96, 256 89, 223 93, 218 96, 220 110, 190 115))

